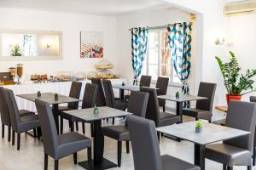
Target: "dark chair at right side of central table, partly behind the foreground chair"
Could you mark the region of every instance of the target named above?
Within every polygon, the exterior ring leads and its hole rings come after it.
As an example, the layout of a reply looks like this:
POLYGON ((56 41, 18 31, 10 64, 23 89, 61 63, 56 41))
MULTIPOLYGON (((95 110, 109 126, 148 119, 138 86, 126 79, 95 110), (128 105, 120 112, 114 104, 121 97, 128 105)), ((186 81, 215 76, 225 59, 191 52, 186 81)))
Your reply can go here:
MULTIPOLYGON (((136 116, 145 117, 148 105, 148 93, 131 92, 127 111, 136 116)), ((118 141, 118 167, 121 167, 122 141, 126 141, 126 152, 129 153, 129 133, 125 125, 102 127, 104 136, 118 141)))

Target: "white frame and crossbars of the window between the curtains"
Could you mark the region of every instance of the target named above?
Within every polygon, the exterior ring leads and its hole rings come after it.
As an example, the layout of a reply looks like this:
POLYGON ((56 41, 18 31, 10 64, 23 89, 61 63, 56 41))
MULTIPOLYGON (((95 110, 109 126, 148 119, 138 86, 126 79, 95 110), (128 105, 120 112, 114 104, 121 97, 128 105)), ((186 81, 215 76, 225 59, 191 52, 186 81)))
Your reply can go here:
MULTIPOLYGON (((161 77, 162 75, 161 75, 161 66, 162 65, 170 65, 171 66, 171 77, 169 77, 169 85, 171 85, 171 86, 177 86, 177 87, 181 87, 182 86, 182 82, 174 82, 173 80, 174 80, 174 74, 176 74, 176 73, 174 73, 174 68, 173 68, 173 65, 172 65, 172 58, 171 58, 171 63, 170 64, 161 64, 161 52, 162 52, 162 49, 166 49, 166 48, 162 48, 161 47, 161 33, 162 32, 164 32, 164 31, 166 31, 166 29, 155 29, 155 30, 149 30, 148 31, 148 34, 149 33, 151 33, 151 32, 156 32, 157 33, 157 37, 158 37, 158 59, 157 59, 157 61, 158 61, 158 63, 157 64, 149 64, 148 63, 148 56, 149 56, 149 49, 154 49, 154 48, 149 48, 149 43, 148 43, 148 50, 147 50, 147 54, 146 54, 146 59, 144 60, 145 61, 145 63, 144 63, 144 66, 145 66, 145 71, 146 71, 146 75, 148 75, 148 67, 149 67, 149 65, 157 65, 157 67, 158 67, 158 69, 157 69, 157 77, 161 77)), ((169 48, 169 47, 167 47, 167 48, 169 48)), ((149 75, 150 76, 150 75, 149 75)), ((156 79, 152 79, 152 83, 156 83, 156 79)))

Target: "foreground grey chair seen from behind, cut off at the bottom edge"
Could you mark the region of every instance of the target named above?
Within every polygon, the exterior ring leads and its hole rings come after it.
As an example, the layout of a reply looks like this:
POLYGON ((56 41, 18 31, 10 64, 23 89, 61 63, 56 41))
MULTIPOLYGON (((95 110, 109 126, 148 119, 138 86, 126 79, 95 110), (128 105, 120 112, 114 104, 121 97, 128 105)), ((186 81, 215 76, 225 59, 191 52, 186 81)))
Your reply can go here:
POLYGON ((127 116, 135 170, 200 170, 200 167, 172 156, 160 156, 153 121, 127 116))

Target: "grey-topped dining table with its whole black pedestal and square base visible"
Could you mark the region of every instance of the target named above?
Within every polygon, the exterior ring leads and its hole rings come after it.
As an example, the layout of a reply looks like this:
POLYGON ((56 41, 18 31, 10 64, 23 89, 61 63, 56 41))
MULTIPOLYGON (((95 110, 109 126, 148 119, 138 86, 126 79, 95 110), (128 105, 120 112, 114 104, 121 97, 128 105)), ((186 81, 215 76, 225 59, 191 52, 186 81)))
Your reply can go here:
POLYGON ((64 114, 79 118, 84 122, 93 123, 93 161, 80 161, 79 165, 86 169, 92 170, 102 170, 112 167, 117 167, 117 164, 109 161, 103 157, 104 150, 104 136, 102 134, 102 119, 113 118, 126 116, 131 114, 127 111, 120 111, 114 108, 107 106, 102 106, 98 108, 98 111, 95 112, 94 108, 73 110, 73 111, 64 111, 64 114))

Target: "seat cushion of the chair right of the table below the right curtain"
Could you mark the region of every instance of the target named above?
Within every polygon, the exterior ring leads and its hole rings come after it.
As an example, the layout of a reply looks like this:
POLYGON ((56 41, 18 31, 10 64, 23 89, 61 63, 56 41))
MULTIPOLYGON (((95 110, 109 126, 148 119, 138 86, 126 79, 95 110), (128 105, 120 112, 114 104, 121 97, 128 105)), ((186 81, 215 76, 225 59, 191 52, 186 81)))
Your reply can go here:
POLYGON ((210 111, 205 111, 205 110, 196 109, 196 108, 189 108, 189 109, 184 108, 183 115, 198 117, 198 118, 207 119, 207 120, 209 120, 212 117, 212 114, 210 111))

